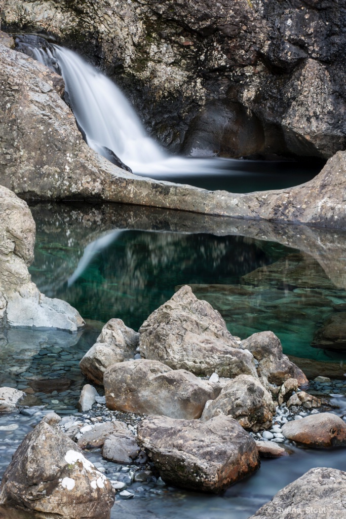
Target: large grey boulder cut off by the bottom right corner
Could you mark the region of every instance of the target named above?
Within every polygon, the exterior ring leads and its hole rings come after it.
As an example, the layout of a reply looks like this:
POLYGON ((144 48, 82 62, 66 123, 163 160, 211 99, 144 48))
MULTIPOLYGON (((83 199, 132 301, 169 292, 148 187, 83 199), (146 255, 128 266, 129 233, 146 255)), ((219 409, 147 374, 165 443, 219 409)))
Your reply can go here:
POLYGON ((328 519, 339 519, 345 513, 346 472, 337 469, 311 469, 285 486, 271 501, 249 519, 315 519, 323 510, 328 519))

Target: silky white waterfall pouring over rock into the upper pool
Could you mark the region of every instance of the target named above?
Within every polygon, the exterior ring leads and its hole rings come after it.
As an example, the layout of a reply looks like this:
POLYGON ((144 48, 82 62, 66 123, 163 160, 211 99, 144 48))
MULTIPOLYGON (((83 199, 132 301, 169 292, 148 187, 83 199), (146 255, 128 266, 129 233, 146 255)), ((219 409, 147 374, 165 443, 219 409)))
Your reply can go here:
MULTIPOLYGON (((47 44, 37 35, 16 37, 17 49, 62 75, 65 97, 88 145, 106 158, 110 151, 134 173, 182 175, 209 174, 232 169, 220 158, 198 159, 169 156, 151 139, 121 90, 72 50, 47 44)), ((178 180, 178 179, 177 179, 178 180)))

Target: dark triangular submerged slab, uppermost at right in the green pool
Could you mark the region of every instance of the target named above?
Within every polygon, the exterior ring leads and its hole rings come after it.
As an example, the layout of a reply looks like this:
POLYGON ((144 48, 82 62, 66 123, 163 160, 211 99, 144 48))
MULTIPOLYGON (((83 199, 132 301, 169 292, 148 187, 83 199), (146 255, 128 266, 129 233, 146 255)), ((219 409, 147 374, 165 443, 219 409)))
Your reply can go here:
POLYGON ((326 272, 317 261, 307 254, 289 254, 272 265, 258 268, 243 276, 246 283, 270 285, 277 288, 302 287, 334 290, 326 272))

